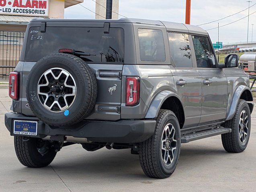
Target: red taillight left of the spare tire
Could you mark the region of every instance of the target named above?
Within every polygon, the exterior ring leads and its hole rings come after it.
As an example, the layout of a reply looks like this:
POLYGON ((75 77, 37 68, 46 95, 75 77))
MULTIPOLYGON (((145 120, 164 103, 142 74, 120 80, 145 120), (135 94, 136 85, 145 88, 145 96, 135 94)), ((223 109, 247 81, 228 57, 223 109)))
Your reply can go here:
POLYGON ((11 72, 9 75, 9 96, 14 100, 18 100, 18 73, 11 72))

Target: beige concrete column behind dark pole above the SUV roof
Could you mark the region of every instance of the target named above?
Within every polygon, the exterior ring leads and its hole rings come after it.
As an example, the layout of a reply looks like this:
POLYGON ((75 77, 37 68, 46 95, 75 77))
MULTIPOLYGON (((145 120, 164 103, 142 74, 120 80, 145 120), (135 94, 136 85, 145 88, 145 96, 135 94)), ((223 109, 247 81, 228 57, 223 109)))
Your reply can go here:
MULTIPOLYGON (((95 19, 106 19, 106 0, 96 0, 95 19), (100 6, 102 5, 102 6, 100 6), (104 6, 104 7, 103 7, 104 6)), ((112 19, 118 19, 119 0, 112 2, 112 19), (116 12, 116 13, 114 13, 116 12)))

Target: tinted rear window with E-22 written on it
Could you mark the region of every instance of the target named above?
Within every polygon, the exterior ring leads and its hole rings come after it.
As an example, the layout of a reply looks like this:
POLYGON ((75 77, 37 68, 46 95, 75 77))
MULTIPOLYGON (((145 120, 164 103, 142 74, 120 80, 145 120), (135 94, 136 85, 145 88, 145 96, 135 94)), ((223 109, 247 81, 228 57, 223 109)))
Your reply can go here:
POLYGON ((124 32, 122 28, 92 27, 40 27, 29 29, 25 60, 37 61, 49 54, 58 53, 61 48, 82 51, 90 56, 81 56, 87 62, 123 62, 124 32))

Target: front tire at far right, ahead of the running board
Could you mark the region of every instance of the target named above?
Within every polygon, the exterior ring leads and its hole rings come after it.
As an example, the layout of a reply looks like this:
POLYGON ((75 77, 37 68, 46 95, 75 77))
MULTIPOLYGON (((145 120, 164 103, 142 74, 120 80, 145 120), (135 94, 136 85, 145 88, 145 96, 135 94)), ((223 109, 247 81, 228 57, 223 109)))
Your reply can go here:
MULTIPOLYGON (((241 122, 243 121, 241 120, 241 122)), ((251 130, 251 114, 250 114, 250 108, 247 102, 243 99, 240 99, 238 102, 238 106, 236 108, 236 113, 233 116, 233 118, 231 120, 226 121, 221 126, 232 129, 231 133, 225 133, 221 135, 222 145, 224 149, 230 153, 243 152, 246 149, 246 146, 249 142, 250 130, 251 130), (244 114, 244 111, 246 112, 246 115, 247 115, 247 121, 246 120, 244 121, 245 124, 247 122, 247 128, 244 127, 243 129, 245 132, 247 130, 247 136, 245 137, 244 142, 242 142, 243 136, 245 134, 242 133, 242 138, 240 138, 240 133, 239 133, 241 130, 240 116, 242 115, 242 112, 244 114)))

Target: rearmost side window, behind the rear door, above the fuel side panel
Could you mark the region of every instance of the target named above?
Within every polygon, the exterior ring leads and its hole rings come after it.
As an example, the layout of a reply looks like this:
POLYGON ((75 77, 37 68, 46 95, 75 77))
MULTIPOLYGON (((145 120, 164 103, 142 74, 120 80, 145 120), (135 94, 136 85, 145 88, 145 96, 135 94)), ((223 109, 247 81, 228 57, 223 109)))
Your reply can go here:
POLYGON ((138 29, 141 61, 165 61, 164 37, 161 30, 138 29))

